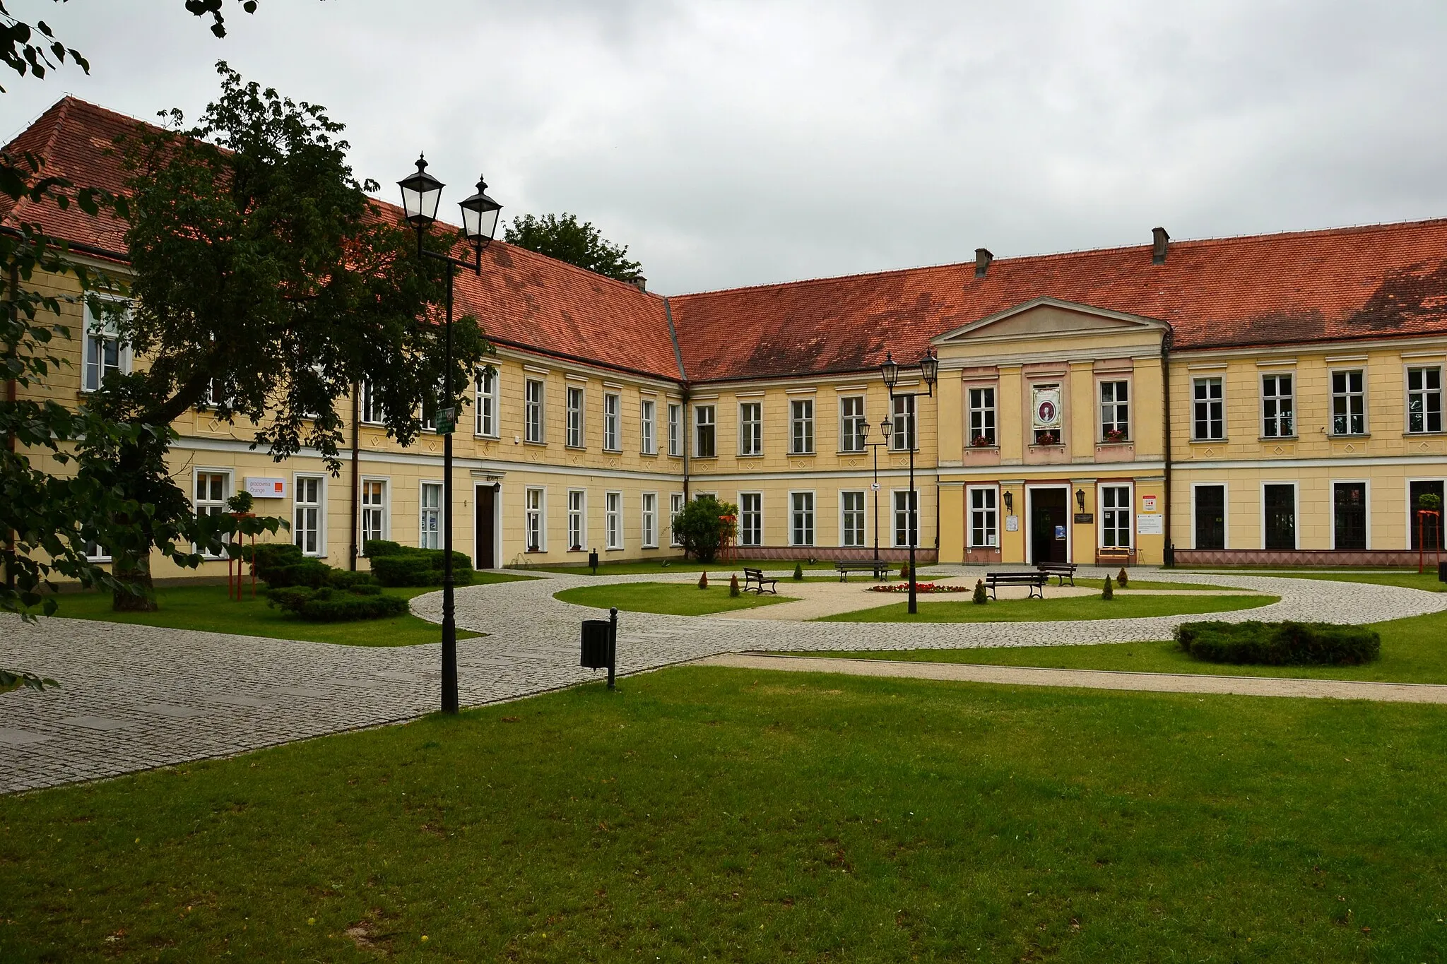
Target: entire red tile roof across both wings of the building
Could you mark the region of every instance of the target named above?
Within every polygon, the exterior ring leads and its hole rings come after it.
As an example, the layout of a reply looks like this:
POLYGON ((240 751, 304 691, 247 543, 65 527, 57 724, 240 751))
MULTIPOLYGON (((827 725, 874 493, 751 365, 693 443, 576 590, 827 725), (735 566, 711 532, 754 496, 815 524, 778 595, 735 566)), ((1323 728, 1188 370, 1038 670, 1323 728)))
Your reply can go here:
MULTIPOLYGON (((46 172, 119 191, 111 153, 139 121, 67 97, 6 150, 46 172)), ((389 211, 396 211, 386 205, 389 211)), ((77 208, 0 207, 56 237, 124 251, 124 224, 77 208)), ((912 363, 930 338, 1051 296, 1171 322, 1179 350, 1447 334, 1447 218, 1150 246, 764 285, 664 299, 493 243, 480 279, 459 275, 459 312, 499 344, 677 379, 669 308, 690 382, 867 371, 912 363)))

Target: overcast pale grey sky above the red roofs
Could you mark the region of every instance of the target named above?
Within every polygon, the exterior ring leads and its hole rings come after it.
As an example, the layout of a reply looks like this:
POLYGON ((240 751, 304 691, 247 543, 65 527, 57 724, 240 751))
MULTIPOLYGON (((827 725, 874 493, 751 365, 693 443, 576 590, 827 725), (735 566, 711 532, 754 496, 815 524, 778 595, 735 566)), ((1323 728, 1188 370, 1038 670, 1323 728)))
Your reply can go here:
POLYGON ((680 293, 1447 215, 1447 3, 6 0, 90 58, 7 77, 194 117, 213 64, 347 126, 359 176, 424 149, 451 208, 572 211, 680 293))

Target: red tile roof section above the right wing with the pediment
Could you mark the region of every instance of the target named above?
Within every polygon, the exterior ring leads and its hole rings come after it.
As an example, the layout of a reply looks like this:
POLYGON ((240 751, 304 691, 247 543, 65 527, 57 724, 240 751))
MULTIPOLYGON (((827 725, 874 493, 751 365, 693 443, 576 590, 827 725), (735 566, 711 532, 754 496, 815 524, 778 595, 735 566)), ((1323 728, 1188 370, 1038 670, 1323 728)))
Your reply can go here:
POLYGON ((1171 322, 1181 350, 1447 334, 1447 218, 765 285, 673 298, 693 380, 913 363, 935 338, 1035 298, 1171 322))

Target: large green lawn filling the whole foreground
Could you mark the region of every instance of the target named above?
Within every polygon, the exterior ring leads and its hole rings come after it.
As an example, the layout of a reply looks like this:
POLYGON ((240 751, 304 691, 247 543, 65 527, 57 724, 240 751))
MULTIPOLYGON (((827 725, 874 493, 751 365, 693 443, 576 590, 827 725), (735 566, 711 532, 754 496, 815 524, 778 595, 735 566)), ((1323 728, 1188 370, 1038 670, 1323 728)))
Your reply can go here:
POLYGON ((679 668, 0 798, 0 960, 1441 964, 1443 746, 1431 705, 679 668))

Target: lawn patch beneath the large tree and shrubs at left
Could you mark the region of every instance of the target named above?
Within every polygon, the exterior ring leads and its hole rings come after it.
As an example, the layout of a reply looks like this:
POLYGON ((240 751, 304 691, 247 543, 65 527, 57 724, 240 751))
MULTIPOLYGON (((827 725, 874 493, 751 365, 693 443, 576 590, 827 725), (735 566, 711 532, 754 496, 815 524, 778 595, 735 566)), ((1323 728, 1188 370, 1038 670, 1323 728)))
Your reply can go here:
MULTIPOLYGON (((501 572, 479 572, 479 582, 511 582, 524 577, 501 572)), ((55 597, 59 603, 56 616, 68 619, 94 619, 109 623, 139 623, 142 626, 164 626, 168 629, 195 629, 208 633, 237 633, 242 636, 269 636, 273 639, 301 639, 315 643, 341 643, 346 646, 412 646, 415 643, 441 642, 441 627, 417 619, 410 613, 388 619, 359 620, 356 623, 308 623, 288 613, 266 606, 259 594, 240 603, 226 598, 224 585, 174 585, 156 590, 161 610, 156 613, 113 613, 110 594, 65 593, 55 597)), ((412 598, 425 590, 383 590, 389 595, 412 598)), ((457 630, 457 639, 472 639, 478 633, 457 630)))

